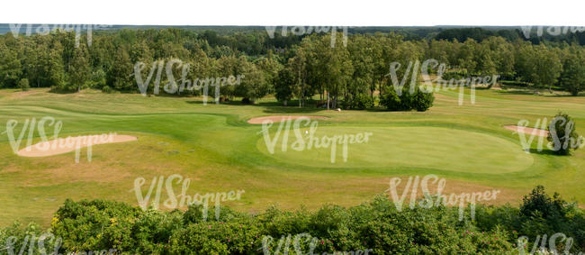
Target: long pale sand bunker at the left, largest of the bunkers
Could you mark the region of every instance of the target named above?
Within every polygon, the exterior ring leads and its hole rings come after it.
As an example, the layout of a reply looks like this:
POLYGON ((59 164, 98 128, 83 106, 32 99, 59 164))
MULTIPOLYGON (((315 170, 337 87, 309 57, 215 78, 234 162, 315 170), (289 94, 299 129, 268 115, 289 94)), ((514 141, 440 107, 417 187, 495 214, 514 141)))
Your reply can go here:
POLYGON ((18 156, 22 157, 46 157, 67 153, 73 150, 94 146, 97 144, 136 141, 138 138, 131 135, 104 133, 101 135, 80 135, 59 138, 51 141, 41 141, 32 144, 23 150, 18 150, 18 156))

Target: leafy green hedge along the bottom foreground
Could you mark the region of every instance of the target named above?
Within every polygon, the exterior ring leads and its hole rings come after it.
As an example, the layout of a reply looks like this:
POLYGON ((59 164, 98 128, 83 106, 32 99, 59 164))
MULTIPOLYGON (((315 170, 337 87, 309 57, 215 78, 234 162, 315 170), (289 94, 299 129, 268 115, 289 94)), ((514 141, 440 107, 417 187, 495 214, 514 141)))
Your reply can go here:
MULTIPOLYGON (((282 254, 288 250, 297 254, 301 250, 311 254, 312 249, 331 254, 371 249, 369 254, 518 254, 519 236, 534 241, 537 234, 554 232, 574 239, 572 252, 583 250, 583 211, 544 191, 537 187, 520 208, 477 205, 473 221, 459 221, 458 208, 442 205, 405 206, 399 211, 383 196, 350 208, 324 205, 316 212, 271 207, 262 214, 245 214, 222 207, 219 219, 207 221, 202 221, 201 205, 192 205, 186 212, 159 212, 111 201, 67 200, 49 232, 63 238, 60 252, 261 254, 266 250, 282 254)), ((14 225, 1 230, 0 238, 18 236, 22 241, 31 232, 37 237, 41 233, 36 225, 26 229, 14 225)))

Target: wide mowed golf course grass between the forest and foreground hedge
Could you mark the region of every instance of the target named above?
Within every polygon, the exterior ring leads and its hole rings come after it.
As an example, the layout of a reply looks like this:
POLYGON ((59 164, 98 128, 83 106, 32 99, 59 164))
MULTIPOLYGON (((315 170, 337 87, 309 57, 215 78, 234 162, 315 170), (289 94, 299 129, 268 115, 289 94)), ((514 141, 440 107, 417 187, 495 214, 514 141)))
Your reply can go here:
MULTIPOLYGON (((534 126, 559 110, 570 114, 577 132, 585 134, 585 97, 532 96, 499 90, 478 90, 475 105, 465 96, 457 104, 455 92, 436 93, 435 105, 425 113, 383 111, 326 111, 312 107, 280 106, 273 98, 257 105, 202 105, 197 97, 103 94, 86 90, 52 94, 0 90, 0 132, 5 123, 35 117, 63 122, 59 137, 117 132, 138 141, 93 147, 91 162, 81 150, 46 158, 14 154, 6 133, 0 135, 0 224, 15 220, 48 226, 66 198, 103 198, 138 205, 132 190, 142 177, 146 194, 152 178, 179 174, 191 179, 195 193, 245 190, 232 208, 259 212, 277 204, 284 209, 323 204, 357 205, 385 192, 392 177, 436 174, 446 178, 446 192, 500 189, 492 204, 518 205, 536 185, 559 192, 568 200, 585 202, 585 150, 570 157, 550 151, 525 153, 518 134, 504 129, 521 119, 534 126), (347 162, 338 146, 335 163, 330 148, 281 150, 271 154, 252 117, 273 114, 328 116, 319 123, 317 137, 372 132, 368 142, 349 144, 347 162)), ((296 102, 290 103, 295 105, 296 102)), ((270 129, 274 137, 278 123, 270 129)), ((52 135, 52 127, 47 129, 52 135)), ((303 129, 304 132, 304 129, 303 129)), ((294 141, 291 132, 289 142, 294 141)), ((20 149, 26 146, 26 137, 20 149)), ((40 141, 35 131, 35 140, 40 141)), ((536 141, 533 142, 536 148, 536 141)), ((401 187, 404 186, 404 182, 401 187)), ((163 189, 164 190, 164 189, 163 189)), ((175 193, 180 185, 175 185, 175 193)), ((166 199, 163 193, 161 201, 166 199)), ((166 209, 161 206, 161 209, 166 209)), ((185 209, 185 208, 182 208, 185 209)))

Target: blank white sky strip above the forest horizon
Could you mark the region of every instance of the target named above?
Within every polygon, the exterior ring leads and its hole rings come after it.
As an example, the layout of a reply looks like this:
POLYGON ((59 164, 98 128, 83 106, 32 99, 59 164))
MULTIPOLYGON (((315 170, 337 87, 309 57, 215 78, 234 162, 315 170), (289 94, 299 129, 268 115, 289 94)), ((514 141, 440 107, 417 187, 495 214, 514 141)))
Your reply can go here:
POLYGON ((0 23, 585 26, 583 0, 7 0, 0 23))

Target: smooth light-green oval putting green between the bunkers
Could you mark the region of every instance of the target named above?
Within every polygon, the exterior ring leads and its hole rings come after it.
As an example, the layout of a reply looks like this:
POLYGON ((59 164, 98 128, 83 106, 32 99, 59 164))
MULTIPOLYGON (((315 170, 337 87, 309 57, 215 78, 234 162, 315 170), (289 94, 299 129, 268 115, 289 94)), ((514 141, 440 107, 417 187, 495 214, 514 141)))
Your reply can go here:
MULTIPOLYGON (((302 132, 305 130, 307 129, 302 129, 302 132)), ((275 146, 275 159, 312 168, 427 168, 437 171, 498 174, 526 170, 533 163, 533 158, 518 150, 518 145, 513 141, 482 132, 443 127, 326 126, 318 129, 315 134, 317 137, 331 137, 360 131, 372 132, 372 136, 368 142, 348 144, 345 162, 342 161, 340 145, 335 151, 336 161, 331 163, 331 146, 283 151, 280 149, 282 139, 275 146), (486 154, 486 150, 493 152, 486 154), (476 168, 477 165, 483 167, 476 168)), ((269 153, 264 139, 258 142, 257 149, 269 153)))

